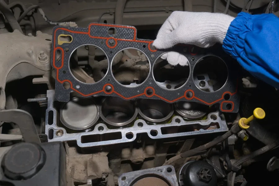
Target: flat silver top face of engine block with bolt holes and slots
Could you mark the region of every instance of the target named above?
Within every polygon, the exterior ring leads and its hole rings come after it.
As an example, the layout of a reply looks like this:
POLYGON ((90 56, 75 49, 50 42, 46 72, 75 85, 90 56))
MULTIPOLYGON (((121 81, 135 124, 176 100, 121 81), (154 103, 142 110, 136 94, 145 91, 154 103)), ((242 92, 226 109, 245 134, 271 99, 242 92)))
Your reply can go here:
POLYGON ((189 121, 185 122, 182 117, 174 116, 170 123, 158 124, 158 125, 148 125, 144 120, 138 119, 134 122, 134 125, 126 128, 109 129, 104 123, 99 123, 94 127, 93 131, 80 132, 80 133, 67 133, 63 127, 57 126, 57 111, 53 107, 54 102, 54 90, 47 91, 48 98, 48 108, 46 112, 46 127, 45 133, 49 137, 49 130, 53 130, 53 139, 49 138, 51 141, 72 141, 76 140, 79 147, 93 147, 108 144, 120 144, 125 142, 131 142, 136 139, 137 134, 146 133, 151 139, 162 139, 162 138, 173 138, 180 136, 194 136, 202 134, 211 134, 218 132, 228 131, 226 121, 222 120, 219 112, 209 113, 206 120, 200 121, 189 121), (49 125, 48 115, 49 112, 53 111, 53 124, 49 125), (216 116, 216 120, 210 118, 211 115, 216 116), (217 128, 211 128, 211 124, 217 124, 217 128), (171 128, 168 128, 171 127, 171 128), (183 127, 193 128, 193 131, 184 132, 180 130, 183 127), (56 131, 62 130, 64 135, 58 137, 56 131), (108 139, 102 140, 102 136, 108 135, 113 137, 115 134, 119 134, 119 139, 108 139), (93 137, 98 137, 94 142, 84 142, 82 143, 82 138, 88 137, 93 139, 93 137), (128 138, 127 138, 128 137, 128 138))

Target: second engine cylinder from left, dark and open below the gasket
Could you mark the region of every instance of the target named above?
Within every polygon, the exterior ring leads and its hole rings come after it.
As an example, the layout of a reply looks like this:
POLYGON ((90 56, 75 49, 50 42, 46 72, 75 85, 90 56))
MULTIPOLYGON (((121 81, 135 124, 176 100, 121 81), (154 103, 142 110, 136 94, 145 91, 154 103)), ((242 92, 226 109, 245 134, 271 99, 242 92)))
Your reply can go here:
POLYGON ((125 126, 133 122, 138 115, 138 109, 132 100, 119 97, 108 97, 100 105, 102 120, 112 126, 125 126))

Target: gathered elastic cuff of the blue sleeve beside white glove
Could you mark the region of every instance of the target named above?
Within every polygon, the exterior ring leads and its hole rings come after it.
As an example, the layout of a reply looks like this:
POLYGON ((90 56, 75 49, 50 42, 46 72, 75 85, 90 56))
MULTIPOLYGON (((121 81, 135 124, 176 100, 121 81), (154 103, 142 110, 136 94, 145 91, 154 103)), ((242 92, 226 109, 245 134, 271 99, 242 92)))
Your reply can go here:
POLYGON ((223 50, 234 58, 238 58, 243 51, 245 36, 252 30, 251 24, 248 23, 252 16, 245 12, 240 12, 231 22, 226 37, 223 41, 223 50))

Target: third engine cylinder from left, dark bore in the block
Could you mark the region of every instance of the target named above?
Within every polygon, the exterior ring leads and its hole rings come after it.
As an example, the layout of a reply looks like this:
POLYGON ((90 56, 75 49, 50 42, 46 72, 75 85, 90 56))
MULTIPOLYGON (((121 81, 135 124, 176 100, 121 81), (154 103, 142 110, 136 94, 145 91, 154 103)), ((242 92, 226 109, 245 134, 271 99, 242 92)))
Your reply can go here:
POLYGON ((138 100, 139 115, 151 123, 167 121, 174 113, 172 104, 162 100, 138 100))

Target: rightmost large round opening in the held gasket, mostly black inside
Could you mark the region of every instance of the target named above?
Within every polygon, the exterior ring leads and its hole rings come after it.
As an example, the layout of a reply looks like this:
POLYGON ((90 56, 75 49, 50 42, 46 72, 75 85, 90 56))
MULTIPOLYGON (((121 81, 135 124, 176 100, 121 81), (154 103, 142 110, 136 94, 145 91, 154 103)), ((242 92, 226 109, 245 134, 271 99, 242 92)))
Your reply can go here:
POLYGON ((221 58, 215 55, 207 55, 194 66, 193 79, 196 86, 202 91, 218 91, 227 82, 227 65, 221 58))

